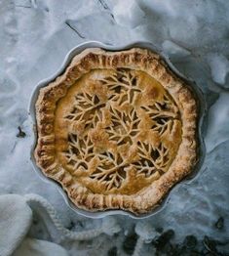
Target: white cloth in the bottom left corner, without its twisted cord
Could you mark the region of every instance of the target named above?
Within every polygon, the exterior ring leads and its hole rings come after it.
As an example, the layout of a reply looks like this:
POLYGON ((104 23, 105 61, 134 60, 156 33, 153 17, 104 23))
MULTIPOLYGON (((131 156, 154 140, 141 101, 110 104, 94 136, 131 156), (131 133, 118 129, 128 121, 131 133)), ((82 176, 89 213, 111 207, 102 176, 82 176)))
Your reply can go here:
POLYGON ((66 256, 66 250, 53 242, 25 237, 31 220, 32 211, 24 197, 0 195, 0 256, 66 256))

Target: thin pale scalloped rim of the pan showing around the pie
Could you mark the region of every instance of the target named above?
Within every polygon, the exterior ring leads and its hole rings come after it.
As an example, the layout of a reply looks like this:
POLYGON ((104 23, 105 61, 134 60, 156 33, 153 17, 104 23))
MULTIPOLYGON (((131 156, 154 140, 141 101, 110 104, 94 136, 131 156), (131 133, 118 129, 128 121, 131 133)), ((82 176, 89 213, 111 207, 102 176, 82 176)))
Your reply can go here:
MULTIPOLYGON (((36 117, 35 117, 35 102, 38 98, 38 93, 39 90, 42 87, 47 86, 50 82, 54 81, 55 78, 57 78, 57 76, 59 74, 61 74, 63 72, 63 70, 68 66, 68 64, 70 63, 70 61, 72 60, 72 58, 81 53, 83 50, 88 49, 88 48, 101 48, 103 50, 107 50, 107 51, 122 51, 122 50, 126 50, 126 49, 131 49, 131 48, 146 48, 149 49, 157 54, 160 55, 160 58, 164 59, 166 61, 167 64, 169 64, 169 67, 172 69, 172 71, 178 76, 181 77, 181 79, 185 80, 185 84, 188 83, 188 85, 190 83, 192 83, 190 80, 187 80, 185 77, 183 77, 174 67, 173 65, 170 63, 169 59, 160 51, 158 51, 155 46, 153 46, 151 43, 149 42, 134 42, 132 44, 126 45, 126 46, 120 46, 120 47, 114 47, 114 46, 109 46, 109 45, 104 45, 100 42, 87 42, 87 43, 83 43, 77 47, 75 47, 74 49, 72 49, 66 56, 63 64, 61 65, 61 67, 59 68, 59 70, 50 78, 45 79, 43 81, 41 81, 35 88, 32 97, 31 97, 31 101, 30 101, 30 106, 29 106, 29 113, 31 115, 31 119, 32 119, 32 123, 33 123, 33 127, 34 127, 34 142, 32 145, 32 149, 31 149, 31 160, 33 163, 33 167, 36 170, 36 172, 40 175, 40 177, 44 178, 46 181, 48 182, 52 182, 53 184, 57 185, 57 188, 59 189, 59 191, 63 194, 64 199, 66 201, 66 203, 68 204, 68 206, 70 208, 72 208, 73 210, 75 210, 77 213, 84 215, 86 217, 90 217, 90 218, 101 218, 101 217, 105 217, 107 215, 114 215, 114 214, 121 214, 121 215, 128 215, 132 218, 145 218, 148 216, 152 216, 156 213, 158 213, 159 211, 161 211, 164 206, 167 204, 168 199, 170 197, 170 195, 172 194, 172 190, 170 192, 168 192, 167 196, 164 197, 163 201, 160 202, 160 205, 156 208, 154 208, 152 211, 149 211, 147 213, 144 214, 139 214, 139 215, 135 215, 132 212, 126 211, 126 210, 117 210, 117 209, 108 209, 108 210, 103 210, 103 211, 98 211, 98 212, 89 212, 87 210, 83 210, 78 208, 77 206, 75 206, 70 199, 68 198, 67 194, 65 192, 63 192, 62 188, 60 187, 60 185, 57 184, 57 182, 55 182, 54 180, 46 177, 41 169, 36 165, 35 162, 35 158, 34 158, 34 149, 36 147, 36 142, 37 142, 37 131, 36 131, 36 117)), ((194 87, 193 83, 192 83, 192 88, 194 87)), ((196 91, 195 93, 198 94, 198 98, 202 97, 202 92, 200 91, 200 89, 198 89, 198 87, 195 85, 194 91, 196 91)), ((202 127, 202 116, 204 116, 204 112, 205 112, 205 107, 204 107, 204 101, 201 101, 201 111, 202 113, 199 114, 199 122, 198 122, 198 136, 200 137, 201 134, 201 127, 202 127)), ((204 142, 203 140, 201 140, 201 138, 199 138, 200 141, 200 159, 198 164, 195 166, 195 170, 192 172, 192 177, 194 176, 194 174, 197 173, 197 169, 200 169, 200 165, 203 161, 204 158, 204 154, 205 154, 205 147, 204 147, 204 142)), ((177 186, 180 186, 182 183, 184 183, 187 179, 184 179, 183 181, 179 182, 178 184, 175 184, 175 188, 177 186)), ((173 187, 173 188, 174 188, 173 187)))

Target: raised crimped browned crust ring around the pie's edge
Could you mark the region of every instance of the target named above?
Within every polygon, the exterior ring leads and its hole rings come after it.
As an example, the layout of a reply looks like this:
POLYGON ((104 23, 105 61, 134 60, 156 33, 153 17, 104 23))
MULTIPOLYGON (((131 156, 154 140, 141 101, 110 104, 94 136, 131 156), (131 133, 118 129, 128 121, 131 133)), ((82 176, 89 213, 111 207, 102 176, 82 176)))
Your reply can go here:
POLYGON ((56 180, 71 201, 80 208, 97 211, 124 209, 135 214, 146 213, 157 206, 172 186, 187 176, 197 161, 197 103, 192 91, 172 73, 159 55, 134 48, 122 52, 87 49, 77 55, 65 72, 40 89, 36 102, 38 140, 34 151, 43 173, 56 180), (57 101, 82 75, 95 68, 126 67, 142 70, 159 81, 170 93, 181 113, 182 141, 172 165, 151 186, 132 195, 95 194, 73 181, 71 174, 56 161, 54 121, 57 101))

